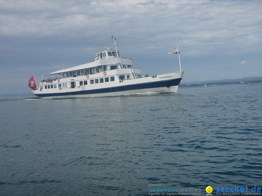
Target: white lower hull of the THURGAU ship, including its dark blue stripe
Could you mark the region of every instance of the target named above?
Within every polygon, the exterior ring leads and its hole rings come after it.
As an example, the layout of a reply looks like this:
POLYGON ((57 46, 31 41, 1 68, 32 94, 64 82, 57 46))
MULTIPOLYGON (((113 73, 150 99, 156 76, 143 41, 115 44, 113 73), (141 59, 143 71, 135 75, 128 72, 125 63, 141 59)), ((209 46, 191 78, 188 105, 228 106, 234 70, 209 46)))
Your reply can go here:
MULTIPOLYGON (((108 83, 76 86, 75 88, 59 88, 45 90, 33 90, 33 94, 41 98, 66 98, 66 97, 101 97, 127 95, 146 92, 172 92, 176 93, 184 72, 143 77, 129 80, 118 80, 108 83)), ((86 76, 82 77, 86 79, 86 76)), ((81 80, 81 78, 79 78, 81 80)), ((67 79, 68 80, 68 79, 67 79)), ((62 79, 59 81, 60 83, 62 79)), ((59 83, 57 81, 52 84, 59 83)), ((68 81, 70 82, 70 80, 68 81)), ((50 84, 50 83, 48 83, 50 84)))

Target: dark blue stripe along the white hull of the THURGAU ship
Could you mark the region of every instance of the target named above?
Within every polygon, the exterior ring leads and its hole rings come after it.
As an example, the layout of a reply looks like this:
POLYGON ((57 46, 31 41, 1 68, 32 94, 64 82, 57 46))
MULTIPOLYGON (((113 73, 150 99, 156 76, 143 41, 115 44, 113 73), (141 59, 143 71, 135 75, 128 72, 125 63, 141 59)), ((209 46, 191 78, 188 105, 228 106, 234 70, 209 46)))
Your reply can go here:
POLYGON ((75 92, 67 93, 48 93, 48 94, 34 94, 38 97, 53 97, 53 96, 68 96, 68 95, 87 95, 87 94, 99 94, 99 93, 113 93, 119 91, 128 91, 128 90, 138 90, 138 89, 150 89, 150 88, 160 88, 160 87, 171 87, 178 86, 182 78, 172 79, 172 80, 163 80, 157 82, 149 82, 142 84, 130 84, 118 87, 110 87, 103 89, 94 89, 94 90, 82 90, 75 92))

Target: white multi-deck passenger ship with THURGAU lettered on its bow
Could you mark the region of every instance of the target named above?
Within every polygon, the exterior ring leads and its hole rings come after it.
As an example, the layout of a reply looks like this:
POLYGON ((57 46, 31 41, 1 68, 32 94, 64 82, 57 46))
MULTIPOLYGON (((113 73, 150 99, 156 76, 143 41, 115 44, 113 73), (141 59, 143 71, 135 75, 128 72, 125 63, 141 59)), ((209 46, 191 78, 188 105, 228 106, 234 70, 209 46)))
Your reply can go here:
MULTIPOLYGON (((177 92, 184 73, 181 71, 181 66, 180 72, 144 76, 140 68, 133 68, 132 59, 120 56, 117 50, 119 45, 114 36, 112 39, 114 44, 97 53, 94 61, 43 74, 40 88, 33 90, 33 94, 42 98, 64 98, 177 92), (43 79, 43 77, 49 78, 43 79)), ((177 54, 179 56, 179 52, 177 54)), ((29 80, 29 87, 32 88, 32 85, 34 82, 29 80)))

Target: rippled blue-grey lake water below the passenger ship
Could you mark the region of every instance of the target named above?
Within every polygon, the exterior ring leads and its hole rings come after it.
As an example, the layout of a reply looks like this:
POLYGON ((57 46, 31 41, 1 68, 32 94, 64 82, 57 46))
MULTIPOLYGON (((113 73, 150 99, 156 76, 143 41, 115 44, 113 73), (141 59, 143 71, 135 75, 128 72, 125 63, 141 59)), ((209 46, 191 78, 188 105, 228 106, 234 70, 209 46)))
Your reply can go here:
MULTIPOLYGON (((262 188, 262 84, 0 99, 0 195, 262 188)), ((167 194, 166 194, 167 195, 167 194)))

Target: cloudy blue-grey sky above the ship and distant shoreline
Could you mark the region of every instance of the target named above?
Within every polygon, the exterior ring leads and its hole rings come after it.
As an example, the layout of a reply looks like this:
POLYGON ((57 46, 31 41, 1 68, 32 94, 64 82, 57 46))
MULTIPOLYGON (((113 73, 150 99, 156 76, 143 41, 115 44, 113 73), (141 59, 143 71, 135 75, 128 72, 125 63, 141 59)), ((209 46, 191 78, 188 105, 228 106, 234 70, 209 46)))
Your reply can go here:
POLYGON ((116 38, 134 68, 181 82, 262 76, 261 0, 0 0, 0 94, 82 65, 116 38))

